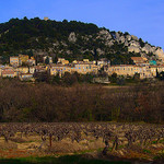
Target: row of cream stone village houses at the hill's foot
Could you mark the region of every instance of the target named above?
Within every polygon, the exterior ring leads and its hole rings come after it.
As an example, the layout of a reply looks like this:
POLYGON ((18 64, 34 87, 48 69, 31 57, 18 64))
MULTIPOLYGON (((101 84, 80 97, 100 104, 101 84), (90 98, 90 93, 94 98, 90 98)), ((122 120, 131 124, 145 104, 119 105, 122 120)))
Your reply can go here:
POLYGON ((58 58, 52 62, 52 57, 44 56, 42 63, 36 63, 34 57, 28 55, 19 55, 10 57, 10 65, 0 66, 0 75, 2 78, 19 78, 21 81, 35 81, 34 73, 47 72, 49 75, 62 77, 66 72, 80 74, 98 74, 103 70, 107 75, 117 73, 117 75, 133 77, 140 74, 140 79, 155 78, 156 73, 164 71, 164 65, 156 61, 149 61, 143 57, 131 57, 132 65, 110 66, 110 61, 102 58, 96 61, 83 59, 73 60, 71 63, 65 58, 58 58))

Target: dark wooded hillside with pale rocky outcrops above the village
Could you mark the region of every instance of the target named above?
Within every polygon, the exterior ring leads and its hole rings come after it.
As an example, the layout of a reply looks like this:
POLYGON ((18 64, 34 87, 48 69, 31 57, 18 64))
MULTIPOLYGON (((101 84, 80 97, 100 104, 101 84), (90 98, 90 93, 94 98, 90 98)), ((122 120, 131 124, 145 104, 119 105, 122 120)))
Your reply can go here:
POLYGON ((144 43, 129 33, 110 32, 92 23, 63 20, 11 19, 0 24, 0 55, 9 56, 49 54, 72 61, 106 57, 113 65, 130 63, 131 56, 143 56, 160 60, 164 52, 160 47, 144 43))

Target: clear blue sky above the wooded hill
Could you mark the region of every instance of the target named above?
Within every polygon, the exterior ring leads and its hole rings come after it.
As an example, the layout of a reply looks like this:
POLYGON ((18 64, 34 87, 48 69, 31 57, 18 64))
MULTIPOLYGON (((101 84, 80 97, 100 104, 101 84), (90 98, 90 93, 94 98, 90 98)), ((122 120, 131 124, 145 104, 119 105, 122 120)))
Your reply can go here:
POLYGON ((0 23, 48 16, 129 32, 164 49, 164 0, 0 0, 0 23))

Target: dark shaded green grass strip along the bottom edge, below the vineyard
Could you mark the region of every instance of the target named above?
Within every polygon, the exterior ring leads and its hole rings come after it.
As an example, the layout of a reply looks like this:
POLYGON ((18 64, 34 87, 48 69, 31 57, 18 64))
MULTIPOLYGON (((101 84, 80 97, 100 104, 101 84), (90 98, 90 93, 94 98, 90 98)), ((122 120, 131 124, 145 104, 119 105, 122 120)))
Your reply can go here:
POLYGON ((109 162, 103 160, 84 159, 81 155, 66 155, 60 157, 26 157, 26 159, 1 159, 2 164, 130 164, 130 162, 109 162))

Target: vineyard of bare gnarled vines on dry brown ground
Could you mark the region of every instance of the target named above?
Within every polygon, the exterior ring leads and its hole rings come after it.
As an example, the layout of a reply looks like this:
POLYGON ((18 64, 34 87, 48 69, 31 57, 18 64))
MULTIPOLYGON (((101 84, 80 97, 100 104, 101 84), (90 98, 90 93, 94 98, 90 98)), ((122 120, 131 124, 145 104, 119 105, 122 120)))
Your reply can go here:
POLYGON ((9 159, 15 157, 15 152, 21 154, 21 156, 28 156, 91 150, 106 157, 163 159, 164 126, 115 122, 0 124, 0 156, 9 159))

